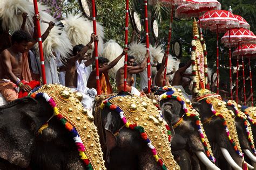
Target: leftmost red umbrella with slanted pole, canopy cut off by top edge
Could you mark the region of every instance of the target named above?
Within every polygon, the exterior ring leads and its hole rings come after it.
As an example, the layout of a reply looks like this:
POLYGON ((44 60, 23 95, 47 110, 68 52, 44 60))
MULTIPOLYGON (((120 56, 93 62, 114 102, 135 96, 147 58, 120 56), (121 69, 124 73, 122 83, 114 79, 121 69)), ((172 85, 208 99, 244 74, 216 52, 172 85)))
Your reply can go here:
POLYGON ((174 6, 176 5, 181 5, 183 4, 185 0, 160 0, 160 3, 165 5, 165 6, 171 6, 172 11, 171 11, 171 21, 170 21, 170 26, 169 26, 169 34, 168 34, 168 40, 167 40, 167 47, 165 51, 165 69, 164 69, 164 81, 163 81, 163 87, 165 86, 165 79, 166 79, 166 72, 167 72, 167 64, 168 64, 168 56, 169 56, 169 49, 170 49, 170 41, 172 39, 172 21, 173 21, 173 11, 174 11, 174 6))

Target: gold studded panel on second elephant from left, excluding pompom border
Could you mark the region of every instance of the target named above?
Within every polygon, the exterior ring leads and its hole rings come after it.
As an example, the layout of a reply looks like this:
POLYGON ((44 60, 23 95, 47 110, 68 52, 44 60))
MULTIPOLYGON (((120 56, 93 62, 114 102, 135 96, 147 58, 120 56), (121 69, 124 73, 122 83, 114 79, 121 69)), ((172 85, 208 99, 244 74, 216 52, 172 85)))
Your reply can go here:
POLYGON ((167 169, 178 169, 171 153, 170 142, 163 118, 150 98, 135 96, 116 96, 109 100, 123 110, 127 122, 142 126, 156 148, 158 157, 163 160, 167 169))

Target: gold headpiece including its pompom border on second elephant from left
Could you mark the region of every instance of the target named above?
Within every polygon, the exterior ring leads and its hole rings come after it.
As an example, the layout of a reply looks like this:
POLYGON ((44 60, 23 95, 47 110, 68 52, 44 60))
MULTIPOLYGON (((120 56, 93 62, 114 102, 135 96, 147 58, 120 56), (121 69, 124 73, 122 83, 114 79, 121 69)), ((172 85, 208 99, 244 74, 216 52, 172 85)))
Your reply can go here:
POLYGON ((163 169, 178 169, 171 153, 169 130, 158 108, 147 97, 113 96, 105 100, 107 107, 118 112, 126 128, 136 130, 151 148, 153 157, 163 169))

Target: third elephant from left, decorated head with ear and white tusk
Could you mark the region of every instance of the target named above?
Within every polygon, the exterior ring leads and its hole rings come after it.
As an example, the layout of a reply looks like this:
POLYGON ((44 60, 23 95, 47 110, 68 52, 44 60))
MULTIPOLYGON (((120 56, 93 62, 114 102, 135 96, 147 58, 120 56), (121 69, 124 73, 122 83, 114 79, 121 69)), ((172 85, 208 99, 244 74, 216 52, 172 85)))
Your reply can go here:
MULTIPOLYGON (((179 89, 169 86, 163 87, 163 90, 167 92, 159 96, 160 107, 165 121, 173 126, 175 132, 171 143, 172 150, 189 151, 196 154, 207 168, 218 169, 213 164, 215 158, 198 112, 192 108, 190 101, 185 100, 179 89)), ((184 166, 182 164, 181 162, 180 166, 184 166)))

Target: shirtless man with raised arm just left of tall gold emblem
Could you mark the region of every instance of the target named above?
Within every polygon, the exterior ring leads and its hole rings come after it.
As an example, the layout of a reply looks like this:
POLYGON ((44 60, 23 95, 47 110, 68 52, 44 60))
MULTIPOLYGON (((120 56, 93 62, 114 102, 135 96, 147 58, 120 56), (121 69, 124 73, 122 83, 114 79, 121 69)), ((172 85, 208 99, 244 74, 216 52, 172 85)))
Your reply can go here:
POLYGON ((185 76, 186 69, 190 67, 191 60, 183 66, 183 63, 179 64, 179 69, 174 73, 172 86, 182 86, 183 85, 183 77, 185 76))

